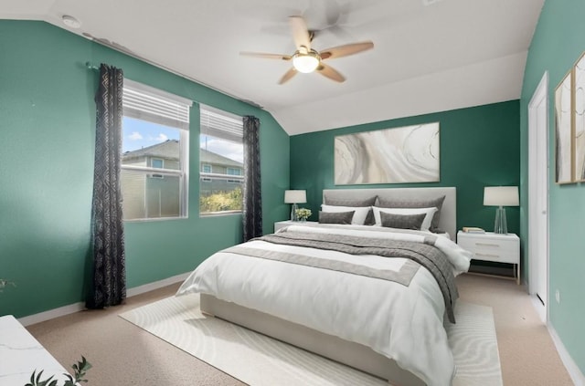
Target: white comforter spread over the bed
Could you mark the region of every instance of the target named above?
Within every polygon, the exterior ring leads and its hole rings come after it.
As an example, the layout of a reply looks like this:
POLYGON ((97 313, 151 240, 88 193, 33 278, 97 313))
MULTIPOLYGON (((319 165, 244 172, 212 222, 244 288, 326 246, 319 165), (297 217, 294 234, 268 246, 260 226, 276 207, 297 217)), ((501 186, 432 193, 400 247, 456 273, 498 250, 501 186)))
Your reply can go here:
MULTIPOLYGON (((350 229, 289 226, 287 232, 329 232, 364 237, 421 241, 427 233, 393 233, 372 226, 350 229)), ((383 269, 399 270, 403 258, 351 256, 259 240, 246 244, 383 269)), ((471 256, 446 237, 439 247, 455 271, 466 271, 471 256)), ((410 287, 366 276, 218 252, 186 279, 177 295, 206 293, 258 309, 311 329, 361 343, 392 358, 428 385, 449 385, 454 375, 452 352, 443 328, 441 290, 420 267, 410 287)))

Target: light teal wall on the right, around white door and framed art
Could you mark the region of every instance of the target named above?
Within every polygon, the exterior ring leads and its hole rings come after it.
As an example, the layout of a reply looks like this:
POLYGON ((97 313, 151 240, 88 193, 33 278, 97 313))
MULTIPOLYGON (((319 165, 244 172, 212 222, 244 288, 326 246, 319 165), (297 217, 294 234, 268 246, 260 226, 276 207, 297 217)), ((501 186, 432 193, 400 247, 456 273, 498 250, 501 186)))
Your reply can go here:
MULTIPOLYGON (((585 50, 585 2, 582 0, 547 0, 538 20, 527 57, 522 97, 521 164, 522 164, 522 223, 521 236, 527 248, 528 224, 528 103, 538 82, 548 71, 548 135, 550 172, 549 184, 549 293, 550 323, 571 358, 585 373, 585 258, 583 258, 583 229, 585 228, 585 185, 558 185, 554 176, 554 89, 585 50), (560 304, 555 290, 560 291, 560 304)), ((527 268, 526 268, 527 269, 527 268)))

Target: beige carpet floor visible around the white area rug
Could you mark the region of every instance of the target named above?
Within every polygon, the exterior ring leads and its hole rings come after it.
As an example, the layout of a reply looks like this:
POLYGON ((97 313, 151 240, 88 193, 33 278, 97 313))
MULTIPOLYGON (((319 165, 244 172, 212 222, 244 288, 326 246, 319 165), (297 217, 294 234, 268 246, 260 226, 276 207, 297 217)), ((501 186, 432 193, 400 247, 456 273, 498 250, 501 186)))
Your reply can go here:
MULTIPOLYGON (((463 301, 491 307, 505 386, 569 386, 547 328, 538 320, 526 287, 497 277, 462 275, 463 301)), ((88 386, 245 386, 225 372, 158 339, 118 314, 175 294, 179 284, 156 289, 125 304, 82 311, 28 326, 65 368, 84 355, 93 368, 88 386)))

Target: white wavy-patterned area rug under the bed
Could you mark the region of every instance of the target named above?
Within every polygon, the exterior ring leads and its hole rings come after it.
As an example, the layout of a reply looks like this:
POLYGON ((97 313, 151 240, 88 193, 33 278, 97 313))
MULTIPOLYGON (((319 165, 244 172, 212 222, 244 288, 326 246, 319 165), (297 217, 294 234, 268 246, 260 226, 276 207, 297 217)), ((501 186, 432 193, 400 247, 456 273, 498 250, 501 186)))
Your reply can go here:
MULTIPOLYGON (((120 315, 252 386, 388 385, 376 377, 199 311, 199 296, 168 297, 120 315)), ((500 386, 492 308, 459 301, 447 330, 456 386, 500 386)))

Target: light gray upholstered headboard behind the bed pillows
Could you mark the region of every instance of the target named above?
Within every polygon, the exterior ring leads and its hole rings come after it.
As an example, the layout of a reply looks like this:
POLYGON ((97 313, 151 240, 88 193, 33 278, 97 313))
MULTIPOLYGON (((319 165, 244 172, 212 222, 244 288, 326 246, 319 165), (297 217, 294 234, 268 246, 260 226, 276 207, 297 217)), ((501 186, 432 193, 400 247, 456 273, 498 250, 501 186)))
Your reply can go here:
POLYGON ((323 202, 326 198, 361 199, 377 195, 402 200, 432 199, 445 196, 442 203, 439 227, 449 233, 454 241, 457 235, 457 190, 446 188, 388 188, 388 189, 324 189, 323 202))

